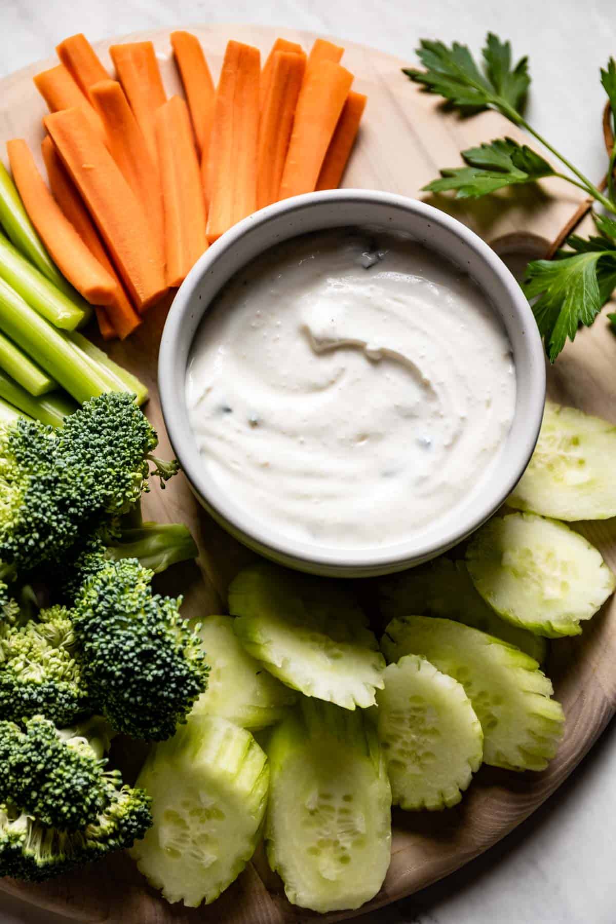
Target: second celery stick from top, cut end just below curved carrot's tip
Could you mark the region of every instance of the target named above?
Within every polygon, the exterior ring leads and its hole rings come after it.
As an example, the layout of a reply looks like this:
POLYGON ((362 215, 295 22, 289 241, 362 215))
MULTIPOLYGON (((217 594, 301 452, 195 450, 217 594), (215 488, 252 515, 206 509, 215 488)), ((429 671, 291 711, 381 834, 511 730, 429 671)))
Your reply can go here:
POLYGON ((56 327, 71 331, 91 316, 87 301, 77 292, 67 295, 54 286, 3 234, 0 234, 0 278, 56 327))

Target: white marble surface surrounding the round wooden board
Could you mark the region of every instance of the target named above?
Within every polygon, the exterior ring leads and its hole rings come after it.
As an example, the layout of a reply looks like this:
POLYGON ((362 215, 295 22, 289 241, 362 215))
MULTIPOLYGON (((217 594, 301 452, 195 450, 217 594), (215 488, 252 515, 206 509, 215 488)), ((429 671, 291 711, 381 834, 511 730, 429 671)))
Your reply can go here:
MULTIPOLYGON (((487 30, 528 54, 537 129, 598 179, 605 170, 598 67, 616 55, 613 0, 1 0, 0 74, 82 30, 91 40, 191 22, 259 22, 332 34, 413 61, 420 37, 477 48, 487 30)), ((231 32, 231 30, 230 30, 231 32)), ((616 669, 616 668, 615 668, 616 669)), ((365 924, 614 924, 616 725, 569 781, 485 857, 365 924)), ((0 896, 3 924, 65 918, 0 896)), ((113 924, 121 924, 114 921, 113 924)))

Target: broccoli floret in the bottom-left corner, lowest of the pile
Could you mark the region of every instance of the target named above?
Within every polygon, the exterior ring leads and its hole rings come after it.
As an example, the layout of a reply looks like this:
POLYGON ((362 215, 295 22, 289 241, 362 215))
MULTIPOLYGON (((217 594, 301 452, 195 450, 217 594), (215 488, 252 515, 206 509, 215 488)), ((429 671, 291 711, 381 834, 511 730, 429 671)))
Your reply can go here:
POLYGON ((0 723, 0 876, 43 881, 143 837, 151 799, 104 770, 109 738, 100 717, 0 723))

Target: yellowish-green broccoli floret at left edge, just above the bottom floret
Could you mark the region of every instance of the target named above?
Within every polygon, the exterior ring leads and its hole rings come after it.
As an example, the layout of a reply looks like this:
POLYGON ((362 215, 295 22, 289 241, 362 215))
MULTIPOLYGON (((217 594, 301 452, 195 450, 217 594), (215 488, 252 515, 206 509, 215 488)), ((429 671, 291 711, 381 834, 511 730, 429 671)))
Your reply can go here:
POLYGON ((15 604, 0 623, 0 720, 19 722, 41 713, 62 726, 88 711, 76 646, 64 607, 22 619, 15 604))

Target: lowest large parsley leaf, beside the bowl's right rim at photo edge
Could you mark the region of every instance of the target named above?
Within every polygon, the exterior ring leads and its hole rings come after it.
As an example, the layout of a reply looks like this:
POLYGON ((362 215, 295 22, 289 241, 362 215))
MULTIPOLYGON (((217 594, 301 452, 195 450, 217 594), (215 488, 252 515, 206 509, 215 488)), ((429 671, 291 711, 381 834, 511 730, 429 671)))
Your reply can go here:
POLYGON ((536 260, 526 268, 526 298, 535 298, 533 313, 550 362, 578 326, 589 327, 616 284, 616 248, 601 237, 570 237, 574 250, 559 250, 555 260, 536 260))

